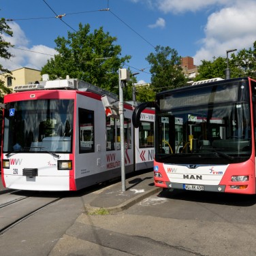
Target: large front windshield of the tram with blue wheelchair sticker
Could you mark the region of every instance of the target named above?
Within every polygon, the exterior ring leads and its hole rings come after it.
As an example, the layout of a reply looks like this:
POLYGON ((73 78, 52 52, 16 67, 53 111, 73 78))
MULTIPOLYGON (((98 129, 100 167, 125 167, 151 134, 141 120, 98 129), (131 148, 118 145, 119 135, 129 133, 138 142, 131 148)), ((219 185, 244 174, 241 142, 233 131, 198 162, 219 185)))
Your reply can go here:
POLYGON ((70 153, 74 100, 11 102, 5 109, 3 153, 70 153))

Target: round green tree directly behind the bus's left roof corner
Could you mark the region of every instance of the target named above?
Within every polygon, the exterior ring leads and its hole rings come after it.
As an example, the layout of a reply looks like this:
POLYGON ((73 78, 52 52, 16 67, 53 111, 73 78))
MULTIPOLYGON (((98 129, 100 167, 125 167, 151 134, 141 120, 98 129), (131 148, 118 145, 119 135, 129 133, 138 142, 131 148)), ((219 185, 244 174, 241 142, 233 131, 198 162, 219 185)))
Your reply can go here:
POLYGON ((169 46, 157 46, 155 53, 151 52, 146 61, 151 65, 151 86, 156 93, 174 89, 187 82, 180 65, 181 57, 169 46))

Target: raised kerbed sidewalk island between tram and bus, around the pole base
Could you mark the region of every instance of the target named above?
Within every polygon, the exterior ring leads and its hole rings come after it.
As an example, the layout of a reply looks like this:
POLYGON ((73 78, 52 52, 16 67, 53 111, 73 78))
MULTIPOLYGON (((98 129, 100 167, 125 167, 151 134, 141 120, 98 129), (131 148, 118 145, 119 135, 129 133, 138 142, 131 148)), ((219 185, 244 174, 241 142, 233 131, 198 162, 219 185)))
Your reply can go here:
POLYGON ((122 182, 120 181, 104 189, 86 205, 86 212, 89 214, 99 210, 106 210, 109 213, 120 212, 162 190, 155 187, 153 172, 140 173, 127 178, 125 187, 126 191, 122 191, 122 182))

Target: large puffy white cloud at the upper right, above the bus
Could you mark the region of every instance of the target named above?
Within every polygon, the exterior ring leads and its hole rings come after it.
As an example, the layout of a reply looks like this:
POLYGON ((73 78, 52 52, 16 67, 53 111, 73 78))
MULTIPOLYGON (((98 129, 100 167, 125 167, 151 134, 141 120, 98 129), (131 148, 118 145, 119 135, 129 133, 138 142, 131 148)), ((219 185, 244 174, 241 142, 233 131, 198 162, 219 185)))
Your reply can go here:
POLYGON ((194 56, 195 65, 203 59, 226 55, 226 50, 249 48, 255 42, 255 1, 238 1, 232 7, 225 7, 208 17, 204 29, 205 37, 199 42, 202 47, 194 56))

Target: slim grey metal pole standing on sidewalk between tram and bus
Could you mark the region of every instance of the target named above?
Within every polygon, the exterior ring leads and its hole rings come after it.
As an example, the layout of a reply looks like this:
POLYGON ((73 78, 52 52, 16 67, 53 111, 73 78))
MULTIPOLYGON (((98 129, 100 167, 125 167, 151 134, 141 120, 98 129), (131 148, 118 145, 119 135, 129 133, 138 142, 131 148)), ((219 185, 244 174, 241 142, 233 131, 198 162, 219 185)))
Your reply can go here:
POLYGON ((125 133, 124 133, 124 111, 123 111, 123 88, 121 84, 121 69, 119 72, 119 116, 120 116, 120 136, 121 136, 121 182, 122 191, 126 191, 125 187, 125 133))

